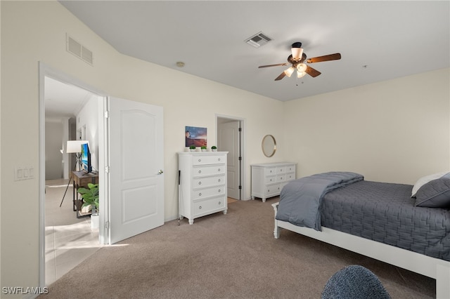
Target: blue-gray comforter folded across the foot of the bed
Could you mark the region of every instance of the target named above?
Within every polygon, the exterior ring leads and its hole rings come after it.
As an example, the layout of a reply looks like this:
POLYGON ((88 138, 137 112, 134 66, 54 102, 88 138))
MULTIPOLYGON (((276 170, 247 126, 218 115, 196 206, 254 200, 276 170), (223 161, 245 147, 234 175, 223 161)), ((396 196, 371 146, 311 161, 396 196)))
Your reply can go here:
POLYGON ((321 199, 336 188, 364 180, 359 173, 333 171, 289 182, 280 194, 276 219, 321 231, 321 199))

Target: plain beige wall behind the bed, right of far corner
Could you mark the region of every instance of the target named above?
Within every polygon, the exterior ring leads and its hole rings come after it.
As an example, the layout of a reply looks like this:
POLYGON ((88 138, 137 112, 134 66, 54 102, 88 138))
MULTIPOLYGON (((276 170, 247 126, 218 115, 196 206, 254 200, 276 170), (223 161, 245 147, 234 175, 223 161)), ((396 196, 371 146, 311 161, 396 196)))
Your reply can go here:
POLYGON ((450 168, 449 69, 286 102, 285 157, 297 176, 355 171, 413 185, 450 168))

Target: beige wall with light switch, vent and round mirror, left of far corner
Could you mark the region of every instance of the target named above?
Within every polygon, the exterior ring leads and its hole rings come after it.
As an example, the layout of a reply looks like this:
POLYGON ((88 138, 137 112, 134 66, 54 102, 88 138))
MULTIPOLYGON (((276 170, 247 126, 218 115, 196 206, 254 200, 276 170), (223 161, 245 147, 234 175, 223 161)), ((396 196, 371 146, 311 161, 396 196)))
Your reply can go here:
POLYGON ((250 164, 283 160, 283 150, 271 160, 260 150, 267 133, 283 142, 282 102, 121 55, 56 1, 0 5, 1 286, 39 286, 39 62, 105 94, 164 107, 165 219, 178 213, 184 126, 207 127, 214 145, 216 114, 245 119, 249 186, 250 164), (66 33, 94 52, 94 67, 65 51, 66 33), (34 166, 34 180, 13 180, 21 165, 34 166))

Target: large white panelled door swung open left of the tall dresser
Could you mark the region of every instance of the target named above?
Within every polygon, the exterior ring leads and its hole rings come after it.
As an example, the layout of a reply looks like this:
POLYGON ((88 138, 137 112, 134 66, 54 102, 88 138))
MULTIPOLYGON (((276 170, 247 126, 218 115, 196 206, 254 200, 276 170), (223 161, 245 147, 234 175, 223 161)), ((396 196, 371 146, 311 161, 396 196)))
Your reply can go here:
POLYGON ((162 107, 110 98, 110 244, 164 224, 162 107))

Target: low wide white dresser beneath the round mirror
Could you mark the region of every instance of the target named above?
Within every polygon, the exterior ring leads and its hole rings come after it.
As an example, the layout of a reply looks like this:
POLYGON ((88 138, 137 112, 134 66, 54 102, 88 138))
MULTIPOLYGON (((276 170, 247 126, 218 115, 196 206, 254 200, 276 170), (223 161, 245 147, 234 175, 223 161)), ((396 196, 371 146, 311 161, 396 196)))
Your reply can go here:
POLYGON ((295 163, 252 164, 252 199, 261 198, 265 202, 269 197, 280 195, 281 189, 291 180, 295 180, 295 163))

